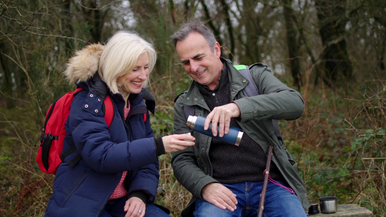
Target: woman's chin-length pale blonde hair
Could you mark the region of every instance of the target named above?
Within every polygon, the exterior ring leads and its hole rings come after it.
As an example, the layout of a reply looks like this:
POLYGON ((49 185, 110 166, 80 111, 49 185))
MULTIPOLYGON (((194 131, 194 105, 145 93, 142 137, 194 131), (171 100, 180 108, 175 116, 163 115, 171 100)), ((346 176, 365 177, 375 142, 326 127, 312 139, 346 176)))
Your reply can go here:
MULTIPOLYGON (((153 44, 147 42, 137 32, 129 30, 118 31, 108 39, 99 61, 99 76, 112 93, 120 93, 118 78, 132 71, 139 56, 145 52, 149 58, 150 74, 157 60, 153 44)), ((147 85, 149 85, 149 76, 143 87, 147 85)))

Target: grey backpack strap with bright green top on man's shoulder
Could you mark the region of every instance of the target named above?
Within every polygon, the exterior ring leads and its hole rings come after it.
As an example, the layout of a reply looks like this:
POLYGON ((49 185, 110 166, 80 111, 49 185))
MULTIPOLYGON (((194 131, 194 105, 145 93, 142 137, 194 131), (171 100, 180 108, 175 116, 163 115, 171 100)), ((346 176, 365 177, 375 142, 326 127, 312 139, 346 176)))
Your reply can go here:
MULTIPOLYGON (((253 97, 260 95, 259 89, 256 86, 256 83, 253 81, 251 71, 249 71, 249 67, 245 65, 235 65, 234 66, 237 70, 239 70, 240 74, 247 78, 249 80, 247 86, 243 89, 243 92, 245 96, 247 97, 253 97)), ((278 120, 271 119, 273 129, 275 130, 276 137, 278 137, 279 141, 283 140, 283 137, 281 136, 281 132, 279 130, 279 124, 278 120)))

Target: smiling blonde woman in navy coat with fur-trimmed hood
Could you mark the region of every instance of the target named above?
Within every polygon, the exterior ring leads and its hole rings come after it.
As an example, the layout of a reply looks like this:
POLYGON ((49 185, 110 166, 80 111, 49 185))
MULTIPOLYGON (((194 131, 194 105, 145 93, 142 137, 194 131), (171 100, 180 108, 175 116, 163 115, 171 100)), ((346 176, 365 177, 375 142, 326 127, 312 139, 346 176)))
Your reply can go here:
POLYGON ((76 151, 58 167, 45 216, 169 216, 153 204, 157 156, 193 146, 195 138, 154 138, 148 110, 155 103, 145 103, 141 91, 155 63, 153 45, 130 31, 115 33, 105 46, 91 44, 69 60, 64 74, 85 90, 73 99, 66 121, 63 150, 76 151), (115 110, 110 127, 100 112, 106 95, 115 110), (77 154, 80 161, 69 166, 77 154))

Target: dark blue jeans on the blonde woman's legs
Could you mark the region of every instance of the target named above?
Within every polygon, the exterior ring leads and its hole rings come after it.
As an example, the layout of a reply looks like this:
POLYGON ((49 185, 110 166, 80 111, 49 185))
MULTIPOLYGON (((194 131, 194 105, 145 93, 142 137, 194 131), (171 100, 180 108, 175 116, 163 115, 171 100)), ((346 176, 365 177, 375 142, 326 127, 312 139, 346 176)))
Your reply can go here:
MULTIPOLYGON (((124 217, 126 212, 123 210, 123 207, 126 201, 127 197, 109 200, 100 217, 124 217)), ((163 207, 163 209, 166 208, 163 207)), ((148 203, 146 204, 145 217, 170 217, 166 211, 168 210, 163 211, 153 203, 148 203)))

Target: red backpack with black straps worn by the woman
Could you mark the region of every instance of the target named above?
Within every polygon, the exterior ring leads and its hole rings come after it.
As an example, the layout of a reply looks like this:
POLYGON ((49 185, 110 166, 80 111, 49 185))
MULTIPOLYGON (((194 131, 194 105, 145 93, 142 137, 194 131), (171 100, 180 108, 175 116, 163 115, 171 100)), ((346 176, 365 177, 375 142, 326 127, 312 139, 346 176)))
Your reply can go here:
MULTIPOLYGON (((64 96, 57 98, 49 107, 42 128, 42 135, 40 137, 40 147, 37 152, 36 161, 39 168, 44 173, 56 174, 56 170, 63 159, 76 150, 73 146, 62 154, 63 141, 66 136, 66 129, 64 123, 70 113, 70 105, 75 95, 83 91, 82 88, 76 88, 74 92, 66 93, 64 96)), ((105 120, 108 127, 110 127, 114 116, 113 103, 109 96, 103 101, 105 120)), ((36 146, 36 144, 35 144, 36 146)), ((81 159, 77 154, 68 164, 73 166, 81 159)))

